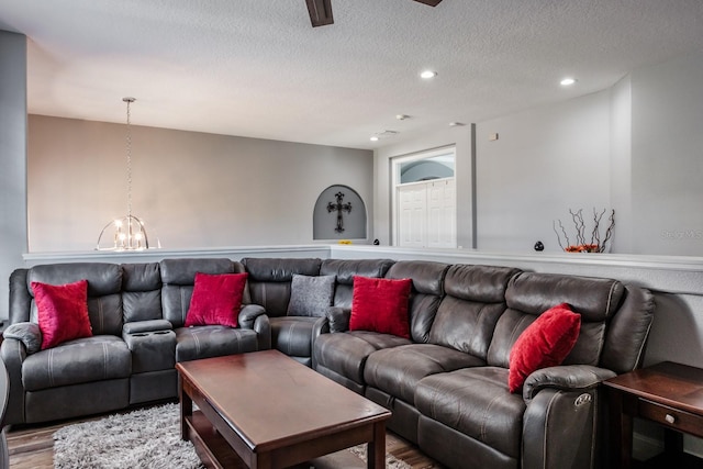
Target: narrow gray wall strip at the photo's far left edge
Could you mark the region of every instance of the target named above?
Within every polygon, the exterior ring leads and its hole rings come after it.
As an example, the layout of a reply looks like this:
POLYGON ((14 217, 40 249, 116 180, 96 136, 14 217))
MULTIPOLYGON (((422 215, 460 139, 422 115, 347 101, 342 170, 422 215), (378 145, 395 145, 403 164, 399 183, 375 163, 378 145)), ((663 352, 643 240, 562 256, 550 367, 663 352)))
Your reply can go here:
MULTIPOLYGON (((23 267, 26 252, 26 38, 0 31, 0 279, 23 267)), ((0 289, 0 320, 8 317, 0 289)))

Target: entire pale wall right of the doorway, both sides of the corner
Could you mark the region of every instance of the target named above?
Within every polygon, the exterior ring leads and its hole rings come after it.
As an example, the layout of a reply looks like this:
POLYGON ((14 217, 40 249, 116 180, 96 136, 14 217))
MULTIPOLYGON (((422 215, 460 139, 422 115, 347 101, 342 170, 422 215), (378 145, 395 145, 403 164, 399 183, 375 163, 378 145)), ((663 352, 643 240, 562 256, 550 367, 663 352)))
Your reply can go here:
POLYGON ((553 221, 571 234, 568 210, 595 206, 616 211, 613 253, 703 256, 702 122, 703 53, 478 123, 477 247, 559 250, 553 221))

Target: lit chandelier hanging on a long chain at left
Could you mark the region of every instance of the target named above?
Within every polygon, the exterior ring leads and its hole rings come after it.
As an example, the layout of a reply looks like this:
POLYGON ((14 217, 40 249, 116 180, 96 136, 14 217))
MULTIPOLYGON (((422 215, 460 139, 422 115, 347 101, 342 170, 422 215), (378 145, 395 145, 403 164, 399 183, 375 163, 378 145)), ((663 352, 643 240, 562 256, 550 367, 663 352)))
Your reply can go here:
POLYGON ((149 238, 146 235, 144 222, 132 214, 132 114, 130 107, 136 99, 122 98, 122 101, 127 103, 127 214, 111 221, 102 228, 100 236, 98 236, 97 250, 142 250, 149 248, 149 238), (107 246, 101 246, 102 237, 105 233, 111 233, 112 236, 104 239, 107 246), (112 244, 110 244, 110 241, 112 241, 112 244))

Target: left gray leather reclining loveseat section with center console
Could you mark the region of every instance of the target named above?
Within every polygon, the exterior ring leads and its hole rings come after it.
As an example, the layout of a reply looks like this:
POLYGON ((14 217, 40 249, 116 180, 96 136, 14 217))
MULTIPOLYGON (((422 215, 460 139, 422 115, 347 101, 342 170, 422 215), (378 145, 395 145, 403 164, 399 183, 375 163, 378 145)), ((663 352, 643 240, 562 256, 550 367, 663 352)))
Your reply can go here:
MULTIPOLYGON (((270 348, 270 326, 245 289, 238 327, 183 327, 196 272, 244 272, 230 259, 146 264, 76 263, 16 269, 0 356, 10 378, 4 423, 38 423, 175 399, 176 361, 270 348), (88 280, 91 337, 33 350, 37 309, 31 282, 88 280)), ((41 340, 40 340, 41 343, 41 340)), ((38 348, 38 346, 37 346, 38 348)))

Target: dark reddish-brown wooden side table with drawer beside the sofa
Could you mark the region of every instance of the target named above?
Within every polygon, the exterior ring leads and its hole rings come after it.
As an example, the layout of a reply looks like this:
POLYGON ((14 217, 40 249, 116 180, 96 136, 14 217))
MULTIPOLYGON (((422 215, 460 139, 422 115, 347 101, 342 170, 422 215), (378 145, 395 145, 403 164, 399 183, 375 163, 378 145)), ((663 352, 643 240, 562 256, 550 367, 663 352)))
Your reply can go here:
POLYGON ((703 437, 703 369, 663 361, 603 384, 611 416, 610 467, 633 467, 633 417, 663 425, 662 458, 668 467, 683 466, 682 433, 703 437))

